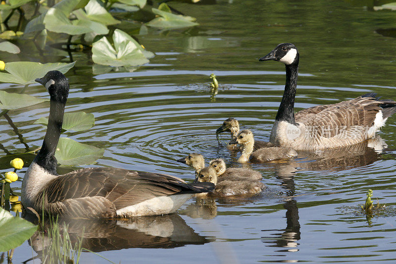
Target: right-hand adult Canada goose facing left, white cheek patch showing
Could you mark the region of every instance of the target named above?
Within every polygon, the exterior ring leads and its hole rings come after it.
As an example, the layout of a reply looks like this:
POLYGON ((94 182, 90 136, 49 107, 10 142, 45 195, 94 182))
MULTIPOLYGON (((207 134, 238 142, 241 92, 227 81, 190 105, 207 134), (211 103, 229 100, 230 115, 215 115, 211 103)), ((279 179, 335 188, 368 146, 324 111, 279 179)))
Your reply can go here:
POLYGON ((313 106, 294 113, 299 53, 291 43, 279 44, 259 61, 276 60, 286 65, 285 92, 272 127, 270 142, 295 150, 343 147, 375 136, 396 102, 379 100, 375 93, 333 105, 313 106))

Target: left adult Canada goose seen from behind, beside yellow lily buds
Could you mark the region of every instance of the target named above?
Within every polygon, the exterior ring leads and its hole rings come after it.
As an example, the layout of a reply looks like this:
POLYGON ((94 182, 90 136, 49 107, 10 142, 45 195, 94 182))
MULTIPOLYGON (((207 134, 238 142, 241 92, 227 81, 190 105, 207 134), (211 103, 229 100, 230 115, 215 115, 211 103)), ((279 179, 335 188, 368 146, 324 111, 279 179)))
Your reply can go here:
POLYGON ((166 174, 119 168, 83 168, 58 175, 54 153, 69 83, 59 71, 49 71, 36 82, 49 92, 49 121, 43 146, 22 181, 25 208, 84 218, 156 215, 174 212, 193 194, 213 190, 213 185, 187 184, 166 174))

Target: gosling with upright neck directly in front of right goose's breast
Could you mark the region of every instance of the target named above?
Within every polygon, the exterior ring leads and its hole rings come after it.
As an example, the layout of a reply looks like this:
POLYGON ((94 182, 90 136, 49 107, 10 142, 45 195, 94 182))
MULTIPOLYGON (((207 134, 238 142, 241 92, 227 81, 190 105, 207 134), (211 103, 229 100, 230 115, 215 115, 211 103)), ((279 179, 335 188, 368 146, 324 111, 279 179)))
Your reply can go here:
POLYGON ((242 130, 235 140, 230 144, 241 144, 242 155, 238 158, 238 162, 268 162, 277 159, 289 159, 297 157, 297 152, 287 147, 270 147, 261 148, 253 152, 254 137, 250 130, 242 130))

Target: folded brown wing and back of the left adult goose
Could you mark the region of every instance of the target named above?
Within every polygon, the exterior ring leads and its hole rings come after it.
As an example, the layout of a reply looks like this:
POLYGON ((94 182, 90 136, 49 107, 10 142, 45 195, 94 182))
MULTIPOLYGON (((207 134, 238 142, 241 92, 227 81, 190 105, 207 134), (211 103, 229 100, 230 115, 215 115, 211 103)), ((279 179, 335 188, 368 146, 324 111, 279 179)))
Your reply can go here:
POLYGON ((211 189, 213 186, 210 184, 189 185, 166 174, 119 168, 86 168, 51 180, 45 193, 49 203, 100 196, 119 209, 158 196, 201 193, 211 189))

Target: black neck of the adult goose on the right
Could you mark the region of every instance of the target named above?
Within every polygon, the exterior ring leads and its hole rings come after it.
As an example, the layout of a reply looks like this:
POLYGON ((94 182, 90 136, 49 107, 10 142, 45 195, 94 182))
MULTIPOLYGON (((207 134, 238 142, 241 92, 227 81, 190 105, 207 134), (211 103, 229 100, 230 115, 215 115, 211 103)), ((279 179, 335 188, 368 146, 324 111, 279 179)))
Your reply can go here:
POLYGON ((294 125, 296 124, 294 119, 294 100, 296 97, 297 75, 298 61, 297 63, 286 65, 285 92, 283 93, 281 105, 275 117, 277 121, 286 121, 294 125))

